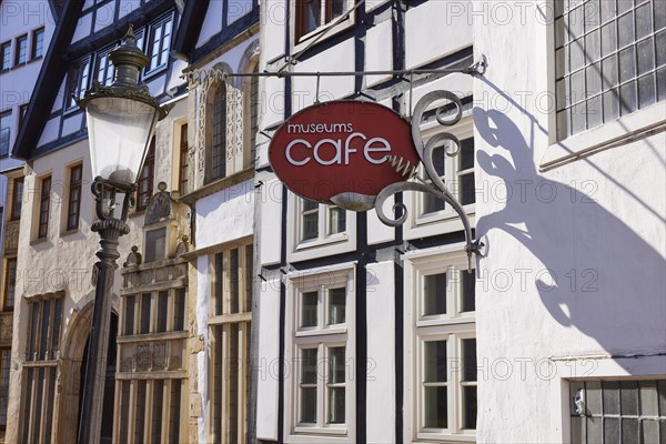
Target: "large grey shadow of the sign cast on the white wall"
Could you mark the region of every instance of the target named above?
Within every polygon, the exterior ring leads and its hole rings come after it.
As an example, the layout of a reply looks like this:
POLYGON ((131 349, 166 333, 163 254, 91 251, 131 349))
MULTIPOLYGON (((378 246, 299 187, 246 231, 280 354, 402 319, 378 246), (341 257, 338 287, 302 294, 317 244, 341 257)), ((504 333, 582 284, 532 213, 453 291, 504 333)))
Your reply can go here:
MULTIPOLYGON (((658 332, 666 332, 666 264, 659 252, 636 233, 637 226, 626 225, 597 203, 598 184, 572 176, 572 186, 541 175, 534 137, 528 143, 507 115, 475 108, 474 124, 501 152, 478 151, 478 165, 511 193, 502 210, 477 220, 477 236, 501 230, 541 262, 539 270, 528 271, 525 294, 536 290, 554 320, 578 329, 612 354, 664 349, 665 335, 658 332)), ((533 131, 541 129, 534 120, 532 125, 533 131)), ((635 196, 617 198, 654 214, 635 196)), ((500 246, 490 246, 497 254, 500 246)), ((516 272, 511 264, 506 268, 516 272)))

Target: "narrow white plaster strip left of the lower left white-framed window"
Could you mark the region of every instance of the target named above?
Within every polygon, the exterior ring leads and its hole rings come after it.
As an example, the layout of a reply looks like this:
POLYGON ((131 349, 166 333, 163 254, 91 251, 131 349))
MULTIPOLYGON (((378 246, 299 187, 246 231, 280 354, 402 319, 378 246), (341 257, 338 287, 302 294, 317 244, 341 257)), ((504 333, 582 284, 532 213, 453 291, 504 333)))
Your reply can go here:
MULTIPOLYGON (((262 213, 262 218, 266 213, 262 213)), ((263 241, 262 241, 263 243, 263 241)), ((256 437, 278 440, 280 360, 280 280, 262 283, 259 315, 256 437)))

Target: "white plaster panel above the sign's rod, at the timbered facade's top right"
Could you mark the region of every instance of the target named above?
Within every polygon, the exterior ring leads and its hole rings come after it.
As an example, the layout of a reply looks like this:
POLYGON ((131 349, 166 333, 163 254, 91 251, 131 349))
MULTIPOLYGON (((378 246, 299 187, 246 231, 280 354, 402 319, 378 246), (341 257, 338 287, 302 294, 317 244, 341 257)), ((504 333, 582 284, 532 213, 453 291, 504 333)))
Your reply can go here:
POLYGON ((406 68, 417 68, 472 46, 472 14, 477 1, 427 1, 405 14, 406 68), (460 12, 457 12, 460 11, 460 12))

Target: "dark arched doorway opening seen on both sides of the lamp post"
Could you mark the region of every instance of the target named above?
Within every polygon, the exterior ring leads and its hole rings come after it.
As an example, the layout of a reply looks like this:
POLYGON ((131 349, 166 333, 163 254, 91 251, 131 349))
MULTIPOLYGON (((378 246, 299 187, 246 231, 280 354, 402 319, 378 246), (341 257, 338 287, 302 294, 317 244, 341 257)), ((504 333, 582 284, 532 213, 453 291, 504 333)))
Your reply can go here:
MULTIPOLYGON (((102 408, 102 432, 101 432, 101 444, 111 444, 113 437, 113 395, 115 390, 115 361, 117 361, 117 344, 115 339, 118 337, 118 315, 111 313, 111 322, 109 324, 109 349, 107 352, 107 379, 104 382, 104 401, 102 408)), ((88 345, 89 339, 85 341, 85 349, 83 351, 83 359, 81 360, 81 374, 79 384, 79 412, 81 412, 81 404, 83 403, 83 382, 85 380, 85 369, 88 366, 88 345)), ((79 427, 81 425, 81 415, 77 421, 77 437, 79 436, 79 427)), ((79 440, 77 440, 79 441, 79 440)))

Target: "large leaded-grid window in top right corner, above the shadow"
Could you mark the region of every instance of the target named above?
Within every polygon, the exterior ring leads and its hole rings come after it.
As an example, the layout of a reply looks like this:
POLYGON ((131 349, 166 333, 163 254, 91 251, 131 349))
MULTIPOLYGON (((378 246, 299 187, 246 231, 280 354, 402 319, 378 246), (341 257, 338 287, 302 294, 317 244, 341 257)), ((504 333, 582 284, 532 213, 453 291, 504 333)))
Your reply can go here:
POLYGON ((559 140, 666 99, 666 3, 555 1, 559 140))

